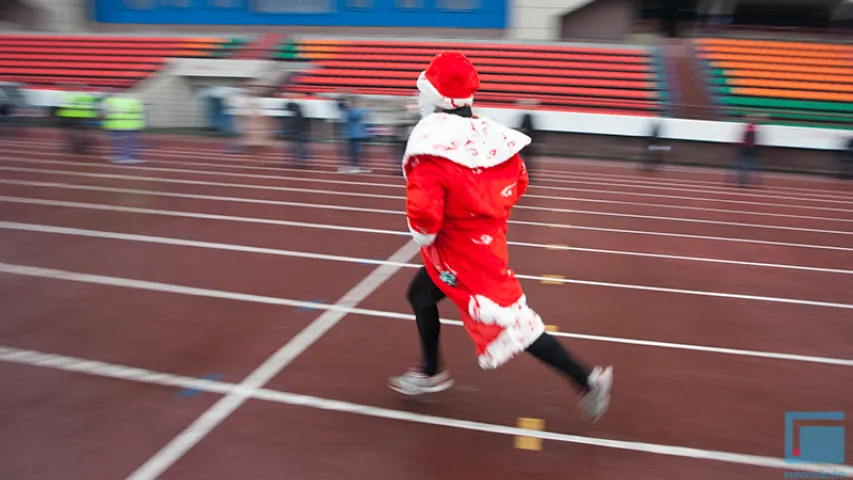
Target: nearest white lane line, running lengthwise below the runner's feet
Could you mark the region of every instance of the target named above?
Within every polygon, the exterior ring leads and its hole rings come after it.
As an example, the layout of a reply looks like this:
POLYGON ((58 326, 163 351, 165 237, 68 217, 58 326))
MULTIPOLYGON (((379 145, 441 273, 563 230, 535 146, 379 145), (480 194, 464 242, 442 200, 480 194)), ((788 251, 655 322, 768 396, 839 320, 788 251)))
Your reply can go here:
MULTIPOLYGON (((435 415, 412 413, 403 410, 392 410, 371 405, 363 405, 341 400, 314 397, 290 392, 281 392, 260 387, 249 387, 242 384, 222 382, 219 380, 198 380, 174 375, 171 373, 158 372, 143 368, 130 367, 114 363, 86 360, 77 357, 43 353, 35 350, 23 350, 12 347, 0 347, 0 361, 29 365, 35 367, 53 368, 67 372, 80 373, 96 377, 112 378, 131 382, 162 385, 174 388, 192 388, 211 393, 226 395, 240 395, 242 398, 254 398, 273 403, 292 405, 318 410, 349 413, 372 418, 382 418, 399 422, 418 423, 424 425, 435 425, 462 430, 470 430, 496 435, 527 436, 550 440, 554 442, 589 445, 593 447, 627 450, 632 452, 649 453, 681 458, 692 458, 710 460, 715 462, 734 463, 739 465, 750 465, 755 467, 775 468, 786 471, 808 471, 808 472, 836 472, 838 474, 853 475, 853 466, 849 465, 825 465, 812 463, 788 463, 785 459, 765 457, 743 453, 721 452, 716 450, 704 450, 692 447, 681 447, 675 445, 662 445, 646 442, 615 440, 609 438, 585 437, 565 433, 548 432, 544 430, 527 430, 523 428, 498 425, 493 423, 461 420, 435 415)), ((245 401, 245 400, 244 400, 245 401)), ((156 478, 154 476, 130 477, 130 478, 156 478)))

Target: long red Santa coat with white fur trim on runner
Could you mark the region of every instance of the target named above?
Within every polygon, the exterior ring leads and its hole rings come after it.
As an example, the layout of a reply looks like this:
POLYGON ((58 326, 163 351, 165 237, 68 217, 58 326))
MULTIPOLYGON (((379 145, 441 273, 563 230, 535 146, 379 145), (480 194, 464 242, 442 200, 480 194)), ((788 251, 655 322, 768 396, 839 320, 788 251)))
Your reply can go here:
POLYGON ((433 114, 403 158, 409 230, 433 282, 459 308, 484 369, 545 331, 509 268, 507 220, 527 190, 530 138, 484 118, 433 114))

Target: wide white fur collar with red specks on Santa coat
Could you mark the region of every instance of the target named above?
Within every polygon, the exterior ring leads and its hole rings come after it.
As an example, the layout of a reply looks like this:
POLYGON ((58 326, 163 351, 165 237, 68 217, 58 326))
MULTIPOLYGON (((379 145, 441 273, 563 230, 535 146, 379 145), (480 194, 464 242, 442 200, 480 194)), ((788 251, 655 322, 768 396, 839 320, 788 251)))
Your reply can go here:
POLYGON ((464 118, 434 113, 421 119, 406 145, 403 172, 409 158, 433 155, 470 169, 489 168, 512 158, 530 144, 530 137, 489 118, 464 118))

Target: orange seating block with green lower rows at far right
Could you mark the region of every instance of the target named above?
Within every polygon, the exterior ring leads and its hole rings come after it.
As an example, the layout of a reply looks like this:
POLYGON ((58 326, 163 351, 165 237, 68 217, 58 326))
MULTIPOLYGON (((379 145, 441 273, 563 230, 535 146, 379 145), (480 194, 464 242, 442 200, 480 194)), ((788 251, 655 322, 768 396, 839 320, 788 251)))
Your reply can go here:
POLYGON ((850 126, 853 46, 737 38, 694 44, 724 116, 758 112, 774 123, 850 126))

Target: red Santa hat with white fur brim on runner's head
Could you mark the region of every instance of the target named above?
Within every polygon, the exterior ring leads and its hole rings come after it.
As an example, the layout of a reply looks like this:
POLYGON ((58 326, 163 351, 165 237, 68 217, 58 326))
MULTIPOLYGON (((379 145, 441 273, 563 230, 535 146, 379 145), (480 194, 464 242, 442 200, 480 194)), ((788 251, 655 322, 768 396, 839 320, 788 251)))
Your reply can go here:
POLYGON ((471 106, 479 88, 477 69, 459 52, 439 53, 418 77, 424 99, 444 110, 471 106))

